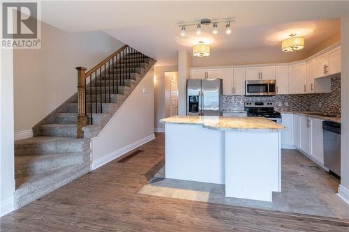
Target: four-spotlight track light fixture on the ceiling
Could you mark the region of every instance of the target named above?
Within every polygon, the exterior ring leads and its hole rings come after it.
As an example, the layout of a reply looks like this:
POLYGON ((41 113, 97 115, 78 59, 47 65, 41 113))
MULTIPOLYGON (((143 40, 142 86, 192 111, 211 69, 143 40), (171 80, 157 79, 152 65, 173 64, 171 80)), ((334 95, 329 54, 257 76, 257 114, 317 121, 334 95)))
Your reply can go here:
POLYGON ((213 30, 212 33, 216 34, 218 33, 218 24, 219 23, 225 23, 225 33, 230 34, 232 32, 232 29, 230 28, 230 22, 235 22, 235 18, 227 18, 227 19, 221 19, 221 20, 209 20, 209 19, 202 19, 200 22, 185 22, 183 24, 179 24, 178 26, 181 28, 181 36, 186 35, 186 26, 196 26, 196 33, 198 35, 201 34, 201 26, 209 26, 212 24, 213 30))

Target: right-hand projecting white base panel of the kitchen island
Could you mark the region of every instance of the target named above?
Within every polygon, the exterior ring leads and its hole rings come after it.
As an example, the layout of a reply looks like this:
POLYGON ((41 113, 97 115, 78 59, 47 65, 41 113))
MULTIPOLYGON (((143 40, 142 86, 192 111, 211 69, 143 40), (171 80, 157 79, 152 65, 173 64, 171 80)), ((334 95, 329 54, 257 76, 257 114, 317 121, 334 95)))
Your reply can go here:
POLYGON ((225 132, 225 196, 272 201, 281 191, 280 133, 225 132))

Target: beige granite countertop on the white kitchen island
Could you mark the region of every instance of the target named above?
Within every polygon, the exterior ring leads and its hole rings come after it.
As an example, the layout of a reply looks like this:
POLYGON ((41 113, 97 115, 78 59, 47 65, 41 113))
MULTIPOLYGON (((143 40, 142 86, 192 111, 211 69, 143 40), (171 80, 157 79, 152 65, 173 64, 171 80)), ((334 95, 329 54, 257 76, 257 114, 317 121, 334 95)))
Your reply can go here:
POLYGON ((222 117, 222 116, 172 116, 161 119, 162 123, 202 125, 213 130, 235 130, 251 132, 279 132, 285 127, 261 117, 222 117))

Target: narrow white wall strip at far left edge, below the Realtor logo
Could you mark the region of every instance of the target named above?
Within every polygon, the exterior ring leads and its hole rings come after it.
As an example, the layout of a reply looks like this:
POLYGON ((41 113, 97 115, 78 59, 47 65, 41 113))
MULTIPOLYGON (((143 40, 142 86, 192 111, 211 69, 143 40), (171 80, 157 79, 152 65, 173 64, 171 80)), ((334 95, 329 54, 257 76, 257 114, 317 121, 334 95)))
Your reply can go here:
POLYGON ((13 50, 0 52, 0 217, 13 210, 15 160, 13 139, 13 50))

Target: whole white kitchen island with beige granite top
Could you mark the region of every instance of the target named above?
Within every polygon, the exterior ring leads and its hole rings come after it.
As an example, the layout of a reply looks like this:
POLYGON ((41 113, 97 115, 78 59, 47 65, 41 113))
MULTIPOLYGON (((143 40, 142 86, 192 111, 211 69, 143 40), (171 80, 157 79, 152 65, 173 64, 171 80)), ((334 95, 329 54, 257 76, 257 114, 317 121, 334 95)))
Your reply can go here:
POLYGON ((165 178, 225 185, 225 196, 272 201, 281 191, 280 134, 267 118, 173 116, 165 123, 165 178))

